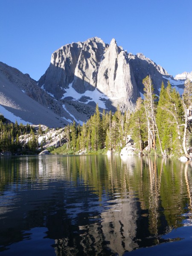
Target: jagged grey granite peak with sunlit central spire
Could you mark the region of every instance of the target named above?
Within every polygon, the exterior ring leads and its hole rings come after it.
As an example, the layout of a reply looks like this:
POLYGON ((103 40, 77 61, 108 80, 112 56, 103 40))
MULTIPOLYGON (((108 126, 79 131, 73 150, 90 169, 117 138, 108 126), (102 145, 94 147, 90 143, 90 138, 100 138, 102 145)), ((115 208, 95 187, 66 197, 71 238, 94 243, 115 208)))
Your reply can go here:
POLYGON ((159 94, 162 81, 166 81, 163 76, 169 76, 166 70, 141 53, 128 54, 115 39, 108 45, 100 38, 90 38, 53 52, 38 84, 57 100, 76 100, 92 106, 98 103, 112 111, 119 105, 122 111, 133 111, 147 75, 151 75, 155 93, 159 94))

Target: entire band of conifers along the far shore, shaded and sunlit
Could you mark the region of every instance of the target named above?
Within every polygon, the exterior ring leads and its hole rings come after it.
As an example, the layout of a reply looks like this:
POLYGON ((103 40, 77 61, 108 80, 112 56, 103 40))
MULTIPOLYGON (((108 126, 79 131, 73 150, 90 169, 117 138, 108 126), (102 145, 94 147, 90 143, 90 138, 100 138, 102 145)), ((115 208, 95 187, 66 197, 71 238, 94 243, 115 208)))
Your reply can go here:
MULTIPOLYGON (((131 140, 136 154, 157 154, 163 157, 190 157, 192 82, 186 80, 182 97, 171 87, 162 83, 160 96, 154 94, 151 77, 143 79, 144 99, 138 98, 134 112, 96 112, 83 125, 74 121, 64 128, 65 143, 58 148, 49 148, 52 154, 119 154, 131 140)), ((14 154, 38 154, 46 143, 38 140, 45 134, 39 125, 36 131, 32 125, 7 123, 0 118, 0 152, 14 154), (28 134, 27 142, 23 138, 28 134)), ((48 129, 48 128, 47 128, 48 129)), ((61 145, 61 143, 60 143, 61 145)))

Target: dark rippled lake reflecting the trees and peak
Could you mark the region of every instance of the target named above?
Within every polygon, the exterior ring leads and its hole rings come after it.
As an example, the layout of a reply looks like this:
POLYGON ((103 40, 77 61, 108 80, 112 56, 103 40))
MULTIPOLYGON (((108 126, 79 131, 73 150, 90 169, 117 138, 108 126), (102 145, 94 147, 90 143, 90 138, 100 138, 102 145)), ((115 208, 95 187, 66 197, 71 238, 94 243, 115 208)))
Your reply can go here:
POLYGON ((192 163, 0 158, 0 255, 192 255, 192 163))

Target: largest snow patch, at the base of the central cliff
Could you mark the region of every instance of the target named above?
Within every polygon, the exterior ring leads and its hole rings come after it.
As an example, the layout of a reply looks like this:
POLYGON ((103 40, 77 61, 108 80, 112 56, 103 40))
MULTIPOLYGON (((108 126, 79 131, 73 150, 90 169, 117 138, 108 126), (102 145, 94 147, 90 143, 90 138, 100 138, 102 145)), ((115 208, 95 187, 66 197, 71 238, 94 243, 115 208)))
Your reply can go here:
POLYGON ((118 98, 109 98, 108 96, 105 96, 104 93, 100 93, 99 90, 97 90, 97 88, 93 91, 87 90, 84 93, 78 93, 76 92, 76 90, 72 87, 72 84, 69 84, 69 88, 65 89, 66 93, 63 94, 63 97, 61 99, 64 99, 65 97, 73 97, 73 100, 75 101, 79 101, 79 99, 82 96, 87 96, 90 97, 91 99, 88 99, 87 102, 85 102, 86 104, 89 102, 94 101, 95 103, 98 103, 99 108, 106 108, 105 107, 105 102, 103 102, 101 99, 118 99, 118 98))

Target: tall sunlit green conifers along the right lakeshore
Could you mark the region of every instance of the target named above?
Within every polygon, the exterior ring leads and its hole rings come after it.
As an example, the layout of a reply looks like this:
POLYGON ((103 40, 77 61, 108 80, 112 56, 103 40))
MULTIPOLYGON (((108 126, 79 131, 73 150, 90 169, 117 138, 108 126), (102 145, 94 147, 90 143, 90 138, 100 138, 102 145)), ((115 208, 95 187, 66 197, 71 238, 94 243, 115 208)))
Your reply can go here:
POLYGON ((67 149, 74 151, 99 151, 102 149, 120 151, 128 138, 132 138, 138 151, 153 152, 163 157, 185 154, 189 157, 190 119, 187 110, 192 101, 192 82, 187 80, 182 97, 162 82, 160 96, 154 93, 150 76, 143 79, 144 99, 138 98, 134 112, 99 113, 83 123, 66 127, 67 149))

